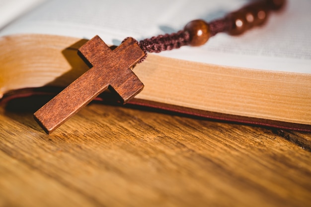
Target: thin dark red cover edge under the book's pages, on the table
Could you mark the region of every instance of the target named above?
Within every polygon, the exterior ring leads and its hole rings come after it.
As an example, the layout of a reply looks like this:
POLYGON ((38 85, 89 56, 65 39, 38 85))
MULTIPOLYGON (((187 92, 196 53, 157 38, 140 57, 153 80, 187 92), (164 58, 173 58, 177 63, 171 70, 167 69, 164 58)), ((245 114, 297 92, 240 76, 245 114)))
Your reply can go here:
MULTIPOLYGON (((0 100, 1 105, 6 105, 7 110, 13 111, 31 111, 35 112, 42 107, 46 102, 52 99, 62 88, 57 87, 41 87, 28 88, 11 91, 3 96, 0 100), (34 104, 35 103, 35 104, 34 104)), ((118 101, 118 97, 112 93, 100 94, 94 102, 102 104, 111 104, 123 106, 118 101)), ((125 107, 135 107, 140 110, 153 110, 158 113, 173 113, 178 116, 189 116, 194 119, 203 118, 214 121, 222 121, 229 123, 239 123, 260 127, 271 127, 277 129, 294 130, 302 132, 311 132, 311 125, 296 124, 289 122, 281 122, 260 118, 251 118, 244 116, 236 116, 230 114, 223 114, 217 112, 203 111, 198 109, 191 109, 175 105, 163 104, 153 101, 146 101, 134 98, 130 100, 125 107)))

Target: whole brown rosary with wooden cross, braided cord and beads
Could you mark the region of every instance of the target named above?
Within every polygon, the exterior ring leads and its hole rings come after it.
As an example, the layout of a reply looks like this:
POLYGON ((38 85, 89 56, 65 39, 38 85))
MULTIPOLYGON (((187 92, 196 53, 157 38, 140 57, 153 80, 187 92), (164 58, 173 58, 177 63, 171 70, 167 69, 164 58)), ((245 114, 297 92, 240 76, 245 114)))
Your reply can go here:
POLYGON ((50 134, 108 87, 126 103, 144 88, 132 68, 143 62, 148 52, 201 46, 220 32, 242 34, 254 26, 262 25, 270 11, 279 10, 285 3, 286 0, 256 0, 210 23, 204 20, 190 21, 176 33, 140 42, 128 37, 113 50, 95 36, 78 49, 78 55, 91 69, 35 112, 34 118, 50 134))

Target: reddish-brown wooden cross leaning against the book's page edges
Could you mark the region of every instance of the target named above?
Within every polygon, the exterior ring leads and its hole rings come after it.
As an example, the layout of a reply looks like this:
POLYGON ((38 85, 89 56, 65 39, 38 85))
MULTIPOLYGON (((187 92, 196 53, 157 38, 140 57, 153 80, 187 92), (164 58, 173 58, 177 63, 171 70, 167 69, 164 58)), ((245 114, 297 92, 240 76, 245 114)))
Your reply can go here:
POLYGON ((119 47, 111 50, 95 36, 78 51, 93 67, 34 113, 35 120, 47 134, 56 130, 108 86, 124 102, 133 98, 144 87, 130 69, 145 56, 134 39, 128 38, 119 47))

